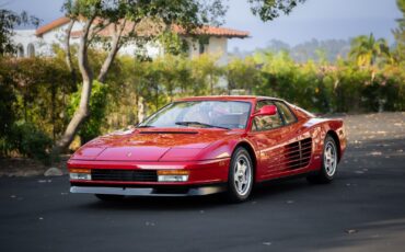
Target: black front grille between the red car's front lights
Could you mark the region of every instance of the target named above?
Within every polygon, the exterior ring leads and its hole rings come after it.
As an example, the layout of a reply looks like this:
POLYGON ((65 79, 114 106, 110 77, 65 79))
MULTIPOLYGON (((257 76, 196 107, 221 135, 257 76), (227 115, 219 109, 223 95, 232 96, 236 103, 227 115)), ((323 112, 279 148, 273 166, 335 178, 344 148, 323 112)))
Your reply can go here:
POLYGON ((93 181, 158 182, 157 171, 92 169, 93 181))

